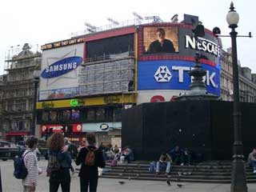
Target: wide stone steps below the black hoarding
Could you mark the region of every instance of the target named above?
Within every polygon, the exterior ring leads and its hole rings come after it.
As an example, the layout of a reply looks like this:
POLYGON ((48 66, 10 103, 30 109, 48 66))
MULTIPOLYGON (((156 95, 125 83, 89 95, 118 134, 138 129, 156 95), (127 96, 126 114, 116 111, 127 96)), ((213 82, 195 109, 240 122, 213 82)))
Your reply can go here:
MULTIPOLYGON (((148 171, 149 162, 134 162, 129 164, 118 164, 118 166, 106 166, 102 173, 102 178, 124 178, 138 180, 166 181, 174 182, 214 182, 230 183, 231 166, 214 164, 198 164, 196 166, 171 166, 170 174, 166 175, 164 170, 160 174, 148 171)), ((256 174, 246 166, 247 182, 256 182, 256 174)))

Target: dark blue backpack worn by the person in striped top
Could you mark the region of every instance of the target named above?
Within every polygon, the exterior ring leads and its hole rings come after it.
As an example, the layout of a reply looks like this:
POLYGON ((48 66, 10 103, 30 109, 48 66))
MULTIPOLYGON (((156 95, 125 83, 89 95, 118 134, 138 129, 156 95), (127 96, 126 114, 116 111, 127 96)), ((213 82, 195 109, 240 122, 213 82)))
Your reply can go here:
MULTIPOLYGON (((31 151, 27 151, 26 154, 30 153, 31 151)), ((32 153, 32 152, 31 152, 32 153)), ((28 174, 24 158, 26 154, 22 155, 22 157, 16 156, 14 158, 14 177, 18 179, 26 178, 26 175, 28 174)))

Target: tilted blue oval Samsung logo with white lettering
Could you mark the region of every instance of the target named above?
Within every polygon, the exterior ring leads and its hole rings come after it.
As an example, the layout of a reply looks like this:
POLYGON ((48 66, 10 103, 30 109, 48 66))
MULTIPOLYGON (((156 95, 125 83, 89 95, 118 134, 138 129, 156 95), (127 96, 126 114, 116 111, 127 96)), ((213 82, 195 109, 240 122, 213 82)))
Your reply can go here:
POLYGON ((62 74, 67 74, 71 70, 75 70, 82 63, 82 58, 78 56, 63 58, 58 62, 54 62, 42 71, 42 78, 56 78, 62 74))

